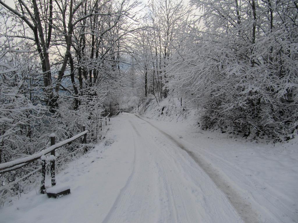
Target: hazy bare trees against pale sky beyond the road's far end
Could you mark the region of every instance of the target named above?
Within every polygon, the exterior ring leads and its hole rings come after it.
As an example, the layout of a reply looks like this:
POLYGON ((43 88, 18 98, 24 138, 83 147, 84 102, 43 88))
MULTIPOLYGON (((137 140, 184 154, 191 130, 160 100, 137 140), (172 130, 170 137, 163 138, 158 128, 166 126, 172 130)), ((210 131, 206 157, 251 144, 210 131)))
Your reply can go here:
POLYGON ((193 8, 184 1, 149 1, 146 16, 134 42, 136 70, 142 74, 145 97, 153 94, 156 100, 168 95, 169 60, 184 47, 187 33, 193 25, 193 8))

